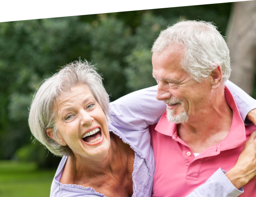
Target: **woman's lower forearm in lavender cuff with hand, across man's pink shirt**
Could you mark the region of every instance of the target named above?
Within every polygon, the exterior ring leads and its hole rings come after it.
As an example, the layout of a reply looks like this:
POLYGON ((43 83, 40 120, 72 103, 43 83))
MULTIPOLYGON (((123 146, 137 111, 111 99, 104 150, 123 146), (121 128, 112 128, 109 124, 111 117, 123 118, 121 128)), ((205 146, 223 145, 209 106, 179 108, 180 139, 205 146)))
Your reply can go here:
POLYGON ((242 194, 242 186, 256 175, 255 138, 256 131, 252 132, 236 165, 230 171, 226 172, 219 168, 205 184, 197 187, 187 197, 237 197, 242 194))

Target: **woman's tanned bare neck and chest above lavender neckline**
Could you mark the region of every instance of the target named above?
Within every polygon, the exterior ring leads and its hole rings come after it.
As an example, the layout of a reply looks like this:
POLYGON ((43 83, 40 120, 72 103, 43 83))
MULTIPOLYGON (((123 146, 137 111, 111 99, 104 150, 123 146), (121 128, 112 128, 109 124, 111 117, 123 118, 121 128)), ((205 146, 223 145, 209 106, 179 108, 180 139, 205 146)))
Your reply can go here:
POLYGON ((69 157, 59 182, 92 187, 105 196, 131 197, 135 153, 113 133, 110 139, 110 149, 101 158, 69 157))

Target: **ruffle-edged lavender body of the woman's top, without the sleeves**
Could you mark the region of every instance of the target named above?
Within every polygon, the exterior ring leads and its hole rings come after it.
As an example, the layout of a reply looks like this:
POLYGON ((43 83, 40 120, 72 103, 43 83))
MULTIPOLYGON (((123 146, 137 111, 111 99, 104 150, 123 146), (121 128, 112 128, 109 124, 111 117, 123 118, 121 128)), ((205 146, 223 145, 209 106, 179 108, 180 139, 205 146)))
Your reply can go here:
MULTIPOLYGON (((120 137, 122 141, 129 144, 135 152, 133 165, 133 197, 149 197, 152 193, 154 174, 154 154, 150 145, 150 134, 145 131, 120 132, 112 125, 108 125, 109 131, 120 137), (126 135, 128 134, 128 135, 126 135), (132 143, 138 141, 139 143, 132 143)), ((82 187, 76 184, 62 184, 59 182, 67 157, 64 156, 53 178, 50 197, 91 197, 104 194, 96 192, 91 187, 82 187)))

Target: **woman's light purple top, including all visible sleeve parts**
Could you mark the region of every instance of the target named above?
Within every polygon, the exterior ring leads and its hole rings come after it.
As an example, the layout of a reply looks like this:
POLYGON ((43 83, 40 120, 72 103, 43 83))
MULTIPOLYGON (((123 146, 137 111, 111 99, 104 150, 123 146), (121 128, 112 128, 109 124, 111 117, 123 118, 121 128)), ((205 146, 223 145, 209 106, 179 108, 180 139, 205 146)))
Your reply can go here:
MULTIPOLYGON (((233 95, 234 99, 245 120, 247 113, 256 108, 256 101, 232 82, 227 82, 226 86, 232 94, 236 94, 236 96, 233 95)), ((133 197, 151 196, 155 166, 148 125, 157 123, 166 110, 166 104, 155 98, 156 92, 157 86, 149 87, 110 103, 112 123, 109 124, 109 130, 119 136, 123 142, 128 143, 135 151, 133 197)), ((53 179, 50 197, 105 197, 104 194, 99 194, 90 187, 59 183, 65 163, 66 157, 63 157, 53 179)), ((163 184, 170 187, 170 190, 175 189, 171 187, 171 183, 163 184)), ((237 190, 219 169, 205 184, 187 197, 237 197, 242 193, 243 188, 237 190)))

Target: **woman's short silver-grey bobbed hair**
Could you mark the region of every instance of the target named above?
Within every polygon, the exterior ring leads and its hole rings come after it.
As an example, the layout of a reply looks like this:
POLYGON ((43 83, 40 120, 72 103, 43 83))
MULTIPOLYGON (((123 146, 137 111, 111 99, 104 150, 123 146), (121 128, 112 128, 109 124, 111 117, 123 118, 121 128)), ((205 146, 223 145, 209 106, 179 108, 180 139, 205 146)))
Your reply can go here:
POLYGON ((93 65, 85 61, 75 61, 63 67, 58 73, 43 81, 33 96, 29 113, 29 126, 35 138, 54 155, 73 155, 68 145, 62 146, 47 136, 46 129, 53 129, 53 138, 58 139, 58 128, 54 123, 57 99, 69 91, 74 85, 85 84, 92 91, 96 101, 108 118, 109 97, 103 86, 102 77, 95 71, 93 65))

